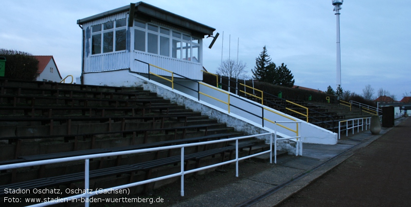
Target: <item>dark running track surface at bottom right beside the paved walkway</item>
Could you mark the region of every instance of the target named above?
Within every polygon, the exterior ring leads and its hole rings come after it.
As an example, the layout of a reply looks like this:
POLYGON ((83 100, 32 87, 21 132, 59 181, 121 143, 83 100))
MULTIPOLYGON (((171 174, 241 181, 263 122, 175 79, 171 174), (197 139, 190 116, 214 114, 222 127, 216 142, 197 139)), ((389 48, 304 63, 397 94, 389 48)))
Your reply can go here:
POLYGON ((277 207, 411 207, 411 118, 277 207))

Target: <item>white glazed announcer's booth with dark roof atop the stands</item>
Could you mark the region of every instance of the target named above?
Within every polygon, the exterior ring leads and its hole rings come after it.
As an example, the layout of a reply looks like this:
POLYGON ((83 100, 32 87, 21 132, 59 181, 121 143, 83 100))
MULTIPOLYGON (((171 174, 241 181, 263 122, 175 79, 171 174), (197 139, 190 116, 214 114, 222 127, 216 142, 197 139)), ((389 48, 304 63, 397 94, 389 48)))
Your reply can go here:
POLYGON ((215 30, 144 2, 78 19, 77 24, 83 31, 82 83, 111 86, 132 85, 133 74, 148 75, 148 65, 140 61, 202 80, 203 38, 215 30))

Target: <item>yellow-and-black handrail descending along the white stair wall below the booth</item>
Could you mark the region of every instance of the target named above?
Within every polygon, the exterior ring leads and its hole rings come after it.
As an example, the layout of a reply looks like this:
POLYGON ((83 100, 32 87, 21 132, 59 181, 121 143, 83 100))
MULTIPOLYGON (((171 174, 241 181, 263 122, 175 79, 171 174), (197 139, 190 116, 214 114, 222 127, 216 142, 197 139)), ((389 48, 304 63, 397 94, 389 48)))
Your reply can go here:
MULTIPOLYGON (((135 59, 135 60, 147 64, 148 72, 149 72, 149 73, 148 73, 148 79, 149 79, 149 80, 150 80, 150 78, 151 78, 150 75, 156 75, 156 76, 158 75, 158 74, 155 74, 155 73, 153 73, 153 72, 150 71, 150 66, 154 66, 154 65, 149 64, 149 63, 147 63, 147 62, 144 62, 144 61, 142 61, 142 60, 138 60, 138 59, 135 59)), ((155 66, 155 67, 156 67, 156 66, 155 66)), ((159 67, 157 67, 157 68, 159 68, 159 67)), ((160 69, 161 69, 161 68, 160 68, 160 69)), ((139 73, 134 72, 134 71, 130 71, 130 72, 131 72, 131 73, 139 74, 139 73)), ((185 77, 184 75, 179 75, 179 74, 174 73, 174 72, 171 72, 171 71, 169 71, 169 72, 172 73, 173 75, 178 75, 178 76, 182 77, 183 79, 196 82, 196 83, 197 83, 197 86, 198 86, 197 91, 194 90, 194 89, 191 89, 191 88, 189 88, 189 87, 186 87, 186 86, 184 86, 184 85, 182 85, 182 84, 179 84, 178 82, 174 82, 174 79, 172 80, 172 81, 173 81, 173 84, 178 84, 178 85, 180 85, 180 86, 182 86, 182 87, 184 87, 184 88, 187 88, 187 89, 190 89, 190 90, 196 92, 196 93, 198 94, 198 97, 197 97, 198 100, 200 100, 200 94, 203 94, 203 95, 206 95, 207 97, 213 98, 213 99, 215 99, 215 100, 217 100, 217 101, 220 101, 220 102, 222 102, 222 103, 227 104, 227 105, 228 105, 228 113, 230 113, 230 107, 234 107, 234 108, 237 108, 237 109, 239 109, 239 110, 241 110, 241 111, 250 113, 250 114, 252 114, 252 115, 254 115, 254 116, 258 117, 258 118, 261 118, 261 120, 262 120, 262 126, 263 126, 263 127, 264 127, 264 120, 268 120, 267 118, 266 118, 266 119, 264 118, 264 110, 267 110, 267 108, 266 108, 266 107, 262 107, 262 106, 258 106, 257 104, 254 103, 254 101, 250 101, 250 100, 248 100, 248 99, 240 98, 240 97, 237 97, 237 96, 232 96, 231 93, 227 93, 227 92, 225 92, 224 90, 219 89, 218 87, 215 87, 215 88, 214 88, 214 87, 211 87, 211 85, 209 85, 209 84, 207 84, 207 83, 204 83, 204 82, 201 82, 201 81, 197 81, 197 80, 193 80, 193 79, 191 79, 191 78, 185 77), (209 87, 209 88, 211 88, 211 89, 217 90, 217 91, 219 91, 219 92, 228 94, 228 102, 223 101, 223 100, 219 100, 219 99, 213 97, 212 95, 208 95, 208 94, 204 94, 204 93, 200 92, 200 85, 204 85, 204 86, 207 86, 207 87, 209 87), (263 116, 259 116, 259 115, 255 114, 255 113, 251 113, 251 112, 249 112, 249 111, 247 111, 247 110, 244 110, 244 109, 243 109, 242 107, 240 107, 240 106, 235 106, 235 105, 233 105, 232 102, 230 102, 230 98, 231 98, 231 97, 240 99, 240 100, 242 100, 242 101, 244 101, 244 102, 250 103, 250 104, 252 104, 252 105, 254 105, 254 106, 257 106, 257 107, 261 108, 261 109, 262 109, 262 112, 263 112, 263 113, 262 113, 263 116)), ((161 76, 161 75, 159 75, 159 76, 161 76)), ((167 78, 165 78, 165 79, 167 79, 167 78)), ((169 80, 170 80, 170 79, 169 79, 169 80)), ((173 89, 173 90, 174 90, 174 89, 173 89)), ((293 118, 288 117, 288 116, 284 116, 284 117, 286 117, 286 118, 288 118, 288 119, 290 119, 290 120, 294 120, 293 118)), ((273 122, 273 121, 270 120, 270 122, 273 122)), ((296 123, 296 125, 297 125, 297 126, 296 126, 296 130, 295 130, 295 131, 296 131, 296 134, 299 134, 298 123, 296 123)), ((281 126, 281 125, 279 125, 279 126, 281 126)), ((289 128, 285 128, 285 129, 288 130, 289 128)), ((291 131, 291 132, 295 132, 295 131, 291 131)))

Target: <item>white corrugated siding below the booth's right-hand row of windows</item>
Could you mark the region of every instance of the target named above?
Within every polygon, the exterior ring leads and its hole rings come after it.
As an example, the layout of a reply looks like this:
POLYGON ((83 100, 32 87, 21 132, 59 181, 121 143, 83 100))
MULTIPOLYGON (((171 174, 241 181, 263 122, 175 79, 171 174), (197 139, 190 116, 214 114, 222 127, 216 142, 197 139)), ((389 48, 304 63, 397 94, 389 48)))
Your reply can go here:
MULTIPOLYGON (((200 63, 193 63, 189 61, 164 57, 164 56, 157 56, 157 55, 150 55, 144 53, 133 52, 132 53, 133 59, 138 59, 163 69, 172 71, 174 73, 184 75, 188 78, 195 79, 195 80, 202 80, 202 65, 200 63)), ((140 63, 139 61, 134 60, 132 63, 131 70, 138 73, 148 73, 147 66, 145 64, 140 63)), ((170 76, 170 73, 162 71, 160 69, 150 67, 150 70, 153 73, 158 75, 166 75, 170 76)))

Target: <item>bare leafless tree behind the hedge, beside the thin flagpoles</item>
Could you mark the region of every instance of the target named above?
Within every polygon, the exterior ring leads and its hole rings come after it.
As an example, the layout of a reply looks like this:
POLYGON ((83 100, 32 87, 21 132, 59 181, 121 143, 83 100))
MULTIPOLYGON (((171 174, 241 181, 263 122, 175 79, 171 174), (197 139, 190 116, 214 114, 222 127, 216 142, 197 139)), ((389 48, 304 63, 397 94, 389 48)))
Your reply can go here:
POLYGON ((217 68, 217 75, 228 76, 238 79, 248 79, 245 68, 247 64, 241 60, 225 59, 217 68))

